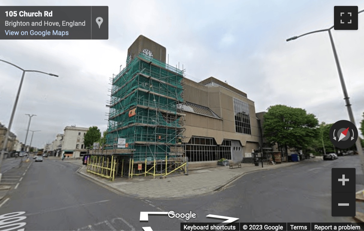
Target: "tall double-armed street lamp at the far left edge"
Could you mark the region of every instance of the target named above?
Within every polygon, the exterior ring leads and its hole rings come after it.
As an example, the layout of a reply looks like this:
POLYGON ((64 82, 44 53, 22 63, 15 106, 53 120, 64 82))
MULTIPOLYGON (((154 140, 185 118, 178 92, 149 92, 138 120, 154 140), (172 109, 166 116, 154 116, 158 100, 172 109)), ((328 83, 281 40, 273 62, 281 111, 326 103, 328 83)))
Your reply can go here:
MULTIPOLYGON (((2 148, 1 154, 0 154, 0 169, 1 169, 1 164, 3 163, 4 153, 5 153, 6 145, 8 143, 8 136, 9 136, 9 132, 11 130, 11 126, 12 126, 12 123, 13 123, 14 114, 15 114, 15 110, 16 110, 16 105, 18 104, 20 90, 21 90, 21 85, 23 85, 23 80, 24 80, 25 72, 38 72, 38 73, 43 73, 43 74, 50 75, 50 76, 54 76, 54 77, 58 77, 58 75, 55 75, 55 74, 52 74, 52 73, 46 73, 46 72, 43 72, 43 71, 25 70, 25 69, 23 69, 23 68, 15 65, 15 64, 13 64, 13 63, 10 63, 8 61, 2 60, 2 59, 0 59, 0 61, 3 62, 3 63, 10 64, 10 65, 12 65, 12 66, 14 66, 14 67, 16 67, 16 68, 18 68, 18 69, 20 69, 20 70, 23 71, 23 75, 21 76, 21 79, 20 79, 18 93, 16 95, 15 102, 14 102, 14 105, 13 105, 13 110, 11 112, 8 130, 6 132, 5 139, 4 139, 4 143, 3 143, 3 148, 2 148)), ((0 181, 1 181, 1 172, 0 172, 0 181)))

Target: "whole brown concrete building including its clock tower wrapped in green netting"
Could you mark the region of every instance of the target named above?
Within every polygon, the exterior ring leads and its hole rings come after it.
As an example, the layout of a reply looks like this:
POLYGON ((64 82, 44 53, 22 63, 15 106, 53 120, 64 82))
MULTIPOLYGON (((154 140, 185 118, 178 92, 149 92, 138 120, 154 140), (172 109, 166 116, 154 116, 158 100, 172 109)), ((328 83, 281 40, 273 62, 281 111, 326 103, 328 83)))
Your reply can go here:
MULTIPOLYGON (((133 163, 187 157, 189 166, 242 162, 260 146, 254 101, 209 77, 199 83, 166 64, 165 47, 139 36, 112 80, 107 144, 133 163)), ((148 163, 147 163, 148 164, 148 163)), ((167 165, 166 165, 167 166, 167 165)))

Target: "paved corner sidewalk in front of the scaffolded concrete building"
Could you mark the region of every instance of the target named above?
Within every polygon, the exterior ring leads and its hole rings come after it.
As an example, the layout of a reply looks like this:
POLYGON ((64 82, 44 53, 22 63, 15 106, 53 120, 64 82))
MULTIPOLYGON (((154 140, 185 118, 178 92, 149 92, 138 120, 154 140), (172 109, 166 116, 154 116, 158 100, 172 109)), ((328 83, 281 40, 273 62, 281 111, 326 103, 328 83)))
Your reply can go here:
MULTIPOLYGON (((322 161, 320 157, 304 161, 322 161)), ((82 166, 82 161, 79 161, 82 166)), ((83 166, 78 172, 88 178, 102 183, 123 194, 139 198, 186 198, 196 195, 207 194, 221 190, 234 180, 257 171, 267 171, 298 164, 300 162, 289 162, 275 165, 265 164, 262 168, 252 163, 241 164, 241 168, 230 169, 229 166, 219 166, 207 169, 189 170, 189 175, 170 176, 166 178, 134 177, 133 179, 115 178, 110 181, 86 171, 83 166), (147 189, 147 190, 146 190, 147 189)))

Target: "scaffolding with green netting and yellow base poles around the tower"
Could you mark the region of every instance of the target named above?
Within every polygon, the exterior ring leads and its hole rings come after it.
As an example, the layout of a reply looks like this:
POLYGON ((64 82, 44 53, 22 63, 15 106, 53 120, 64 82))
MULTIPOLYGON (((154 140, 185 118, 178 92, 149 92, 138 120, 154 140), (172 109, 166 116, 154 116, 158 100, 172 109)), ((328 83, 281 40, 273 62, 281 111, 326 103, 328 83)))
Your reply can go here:
POLYGON ((183 68, 143 53, 130 61, 112 78, 107 147, 91 160, 111 155, 115 175, 128 178, 188 174, 180 106, 183 77, 183 68), (125 142, 122 145, 118 144, 120 138, 125 142))

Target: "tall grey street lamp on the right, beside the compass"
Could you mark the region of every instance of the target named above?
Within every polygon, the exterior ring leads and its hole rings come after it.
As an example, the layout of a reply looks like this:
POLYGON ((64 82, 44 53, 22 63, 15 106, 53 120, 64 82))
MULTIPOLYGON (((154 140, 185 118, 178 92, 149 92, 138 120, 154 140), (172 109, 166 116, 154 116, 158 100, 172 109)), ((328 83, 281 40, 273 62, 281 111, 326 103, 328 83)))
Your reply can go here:
MULTIPOLYGON (((364 12, 364 9, 359 11, 358 14, 364 12)), ((335 44, 334 44, 334 40, 332 39, 332 35, 331 35, 331 29, 334 28, 334 26, 328 28, 328 29, 322 29, 322 30, 318 30, 318 31, 312 31, 312 32, 308 32, 308 33, 305 33, 303 35, 300 35, 300 36, 294 36, 294 37, 291 37, 289 39, 287 39, 286 41, 291 41, 291 40, 294 40, 294 39, 298 39, 299 37, 302 37, 302 36, 305 36, 305 35, 309 35, 309 34, 312 34, 312 33, 317 33, 317 32, 324 32, 324 31, 327 31, 329 32, 329 37, 330 37, 330 42, 331 42, 331 47, 332 47, 332 51, 334 53, 334 57, 335 57, 335 62, 336 62, 336 67, 337 67, 337 72, 339 72, 339 78, 340 78, 340 83, 341 83, 341 88, 343 89, 343 93, 344 93, 344 100, 345 100, 345 103, 346 103, 346 107, 348 109, 348 114, 349 114, 349 119, 350 121, 355 124, 355 119, 354 119, 354 115, 353 115, 353 111, 351 109, 351 104, 350 104, 350 101, 349 101, 349 96, 348 96, 348 91, 346 89, 346 85, 345 85, 345 81, 344 81, 344 77, 343 77, 343 72, 341 71, 341 67, 340 67, 340 63, 339 63, 339 58, 337 57, 337 53, 336 53, 336 48, 335 48, 335 44)), ((358 137, 358 139, 356 140, 355 142, 355 145, 356 145, 356 150, 358 151, 358 154, 360 156, 360 160, 361 160, 361 169, 363 170, 364 172, 364 155, 363 155, 363 148, 361 147, 361 143, 360 143, 360 139, 358 137)))

